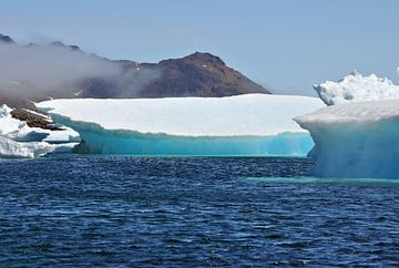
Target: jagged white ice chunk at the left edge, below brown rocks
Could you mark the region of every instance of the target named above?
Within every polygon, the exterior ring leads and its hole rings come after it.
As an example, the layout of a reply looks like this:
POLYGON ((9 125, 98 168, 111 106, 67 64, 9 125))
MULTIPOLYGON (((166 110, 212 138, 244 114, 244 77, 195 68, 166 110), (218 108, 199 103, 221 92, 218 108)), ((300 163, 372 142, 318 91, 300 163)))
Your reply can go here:
POLYGON ((30 127, 13 118, 11 111, 7 105, 0 106, 0 158, 71 152, 80 141, 79 134, 69 127, 63 131, 30 127))

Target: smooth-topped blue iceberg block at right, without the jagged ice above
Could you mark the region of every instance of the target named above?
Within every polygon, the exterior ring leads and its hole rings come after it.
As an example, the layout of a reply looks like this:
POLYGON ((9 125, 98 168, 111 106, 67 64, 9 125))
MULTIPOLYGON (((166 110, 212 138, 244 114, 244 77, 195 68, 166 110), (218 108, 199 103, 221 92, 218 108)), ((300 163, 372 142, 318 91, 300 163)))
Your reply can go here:
POLYGON ((399 178, 399 100, 327 106, 295 121, 316 144, 313 175, 399 178))

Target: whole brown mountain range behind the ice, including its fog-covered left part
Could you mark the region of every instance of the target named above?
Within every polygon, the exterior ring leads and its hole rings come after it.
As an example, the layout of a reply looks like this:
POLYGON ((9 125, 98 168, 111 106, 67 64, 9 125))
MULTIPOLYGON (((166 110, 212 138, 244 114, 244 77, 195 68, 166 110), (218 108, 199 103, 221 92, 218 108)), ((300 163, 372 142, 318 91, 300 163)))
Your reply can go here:
MULTIPOLYGON (((0 34, 0 44, 16 44, 8 35, 0 34)), ((0 75, 0 102, 17 107, 27 106, 27 100, 38 102, 49 97, 214 97, 246 93, 269 94, 263 86, 211 53, 195 52, 158 63, 139 63, 130 60, 112 61, 60 41, 10 48, 13 58, 9 56, 11 52, 3 51, 3 55, 12 59, 11 61, 19 61, 19 64, 0 62, 0 70, 7 70, 7 74, 0 75), (20 68, 12 73, 9 65, 20 68)))

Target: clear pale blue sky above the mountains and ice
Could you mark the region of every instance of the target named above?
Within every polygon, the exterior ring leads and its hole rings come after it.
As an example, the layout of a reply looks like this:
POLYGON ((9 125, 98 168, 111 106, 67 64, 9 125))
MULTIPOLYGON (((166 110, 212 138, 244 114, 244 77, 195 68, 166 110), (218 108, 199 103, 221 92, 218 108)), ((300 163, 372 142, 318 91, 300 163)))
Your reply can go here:
POLYGON ((221 56, 275 93, 357 70, 399 82, 397 0, 0 0, 0 33, 113 60, 221 56))

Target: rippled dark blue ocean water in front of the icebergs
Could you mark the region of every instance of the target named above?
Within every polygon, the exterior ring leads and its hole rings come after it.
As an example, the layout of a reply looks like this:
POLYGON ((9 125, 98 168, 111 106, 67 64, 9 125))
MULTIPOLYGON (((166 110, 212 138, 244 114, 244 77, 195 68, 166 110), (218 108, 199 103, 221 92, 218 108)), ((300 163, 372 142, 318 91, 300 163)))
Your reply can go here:
POLYGON ((0 161, 0 267, 398 266, 399 181, 308 158, 0 161))

